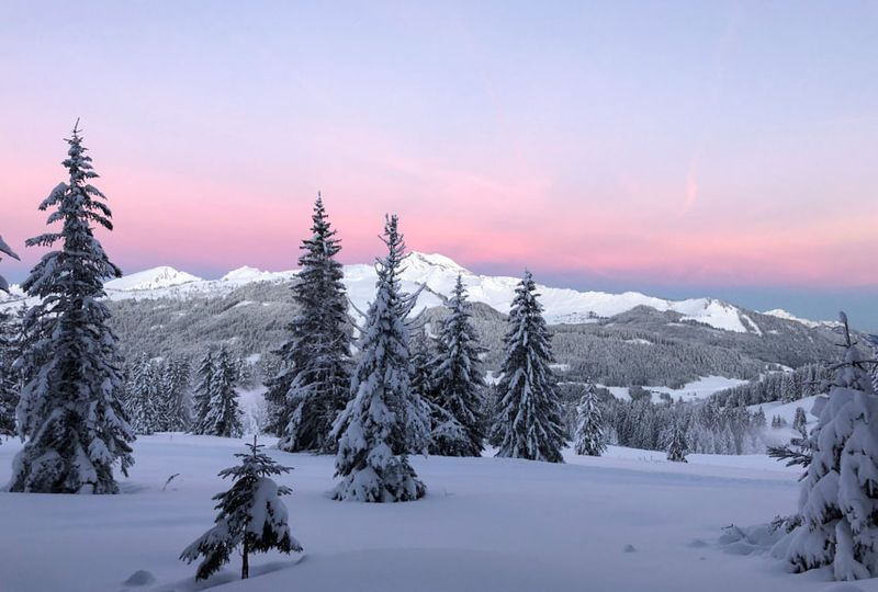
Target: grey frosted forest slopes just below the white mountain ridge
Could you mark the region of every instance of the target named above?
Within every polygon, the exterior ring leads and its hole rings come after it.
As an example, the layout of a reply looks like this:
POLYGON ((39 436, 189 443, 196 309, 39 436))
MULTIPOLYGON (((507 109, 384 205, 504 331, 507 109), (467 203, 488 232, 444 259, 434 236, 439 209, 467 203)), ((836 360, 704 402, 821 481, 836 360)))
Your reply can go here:
MULTIPOLYGON (((120 350, 127 358, 148 352, 151 356, 196 360, 205 344, 223 344, 235 355, 259 354, 266 364, 271 364, 272 352, 286 339, 282 319, 299 311, 290 301, 290 285, 261 282, 221 296, 125 299, 110 301, 108 307, 113 312, 111 326, 120 338, 120 350)), ((506 318, 481 303, 472 303, 471 309, 473 326, 486 350, 484 366, 496 372, 503 362, 506 318)), ((438 322, 446 315, 439 307, 427 311, 425 318, 438 322)), ((671 388, 710 375, 753 380, 780 367, 776 361, 784 356, 773 353, 775 348, 795 352, 803 346, 798 333, 792 333, 772 335, 775 345, 757 350, 751 342, 767 338, 716 337, 716 330, 703 327, 653 325, 653 316, 639 310, 626 314, 627 322, 621 326, 615 323, 617 317, 601 323, 553 326, 555 358, 570 368, 564 372, 564 379, 671 388)), ((818 345, 811 344, 791 357, 811 362, 820 356, 831 358, 832 343, 820 335, 814 333, 818 345), (808 357, 812 350, 819 352, 818 357, 808 357)))

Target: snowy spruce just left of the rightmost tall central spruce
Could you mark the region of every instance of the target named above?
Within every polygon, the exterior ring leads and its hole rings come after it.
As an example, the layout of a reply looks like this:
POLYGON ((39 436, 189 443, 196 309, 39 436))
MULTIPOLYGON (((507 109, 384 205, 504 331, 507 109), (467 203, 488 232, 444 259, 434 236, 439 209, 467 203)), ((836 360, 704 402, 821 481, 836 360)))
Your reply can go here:
MULTIPOLYGON (((448 412, 463 428, 466 441, 434 437, 430 454, 482 456, 485 439, 482 432, 485 380, 479 356, 485 350, 479 345, 479 334, 473 327, 466 301, 466 288, 460 275, 448 308, 451 314, 442 322, 438 352, 430 364, 431 402, 448 412)), ((434 413, 432 432, 437 432, 446 423, 447 419, 437 418, 434 413)))

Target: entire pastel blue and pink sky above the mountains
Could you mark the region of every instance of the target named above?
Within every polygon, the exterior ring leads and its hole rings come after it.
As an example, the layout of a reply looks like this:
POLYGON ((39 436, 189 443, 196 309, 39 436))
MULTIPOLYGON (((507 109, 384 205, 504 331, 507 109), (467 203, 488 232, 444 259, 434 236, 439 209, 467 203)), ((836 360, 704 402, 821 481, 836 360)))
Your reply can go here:
POLYGON ((878 3, 50 2, 0 13, 0 234, 77 117, 124 271, 412 249, 878 331, 878 3))

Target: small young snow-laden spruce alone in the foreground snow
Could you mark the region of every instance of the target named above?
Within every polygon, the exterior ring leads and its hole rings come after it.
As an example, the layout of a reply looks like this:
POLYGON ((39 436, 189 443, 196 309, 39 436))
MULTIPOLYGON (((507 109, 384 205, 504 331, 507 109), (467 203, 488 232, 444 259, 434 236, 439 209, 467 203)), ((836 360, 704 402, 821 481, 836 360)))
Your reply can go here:
POLYGON ((232 553, 240 547, 240 577, 250 576, 249 556, 278 549, 281 553, 301 551, 302 545, 290 534, 286 505, 281 496, 291 493, 289 487, 279 486, 271 478, 290 473, 290 467, 279 465, 256 443, 247 444, 249 453, 236 454, 241 463, 219 471, 219 477, 232 477, 228 491, 213 497, 218 503, 215 525, 189 545, 180 555, 187 563, 204 557, 195 572, 195 580, 204 580, 228 562, 232 553))

